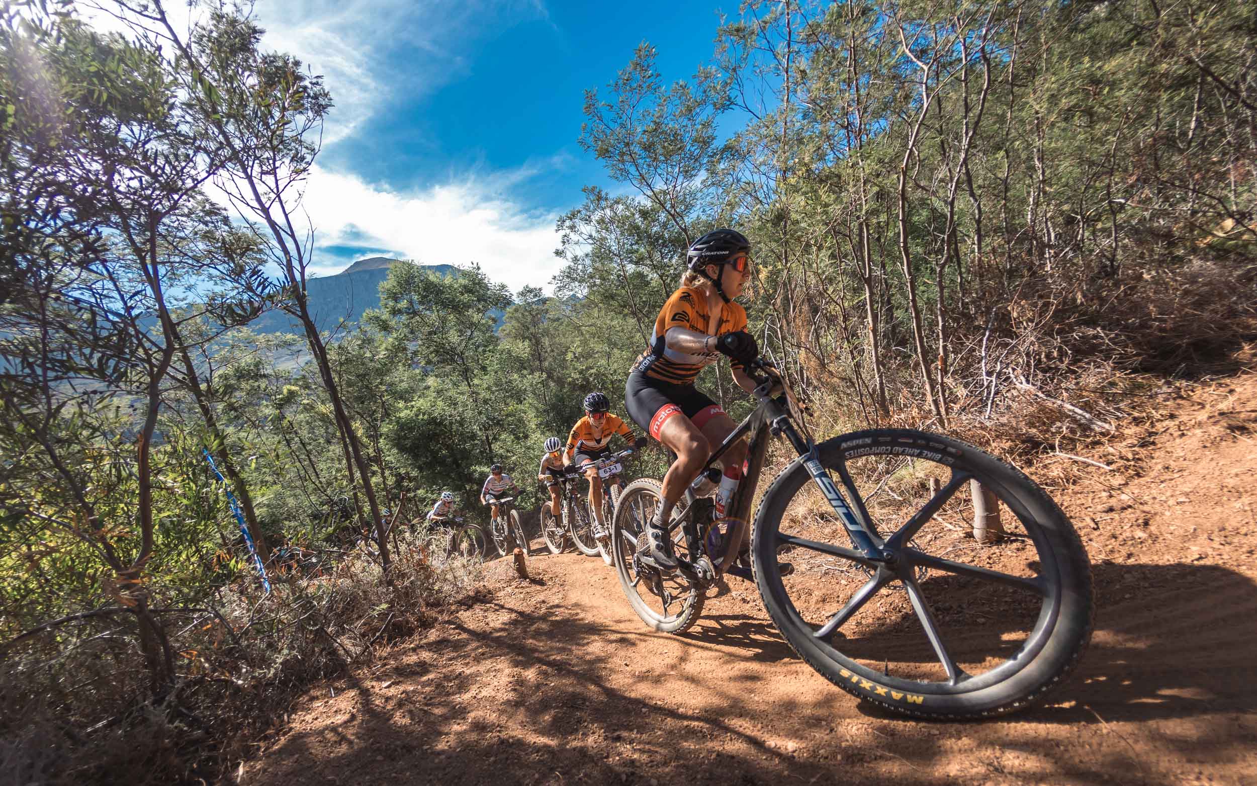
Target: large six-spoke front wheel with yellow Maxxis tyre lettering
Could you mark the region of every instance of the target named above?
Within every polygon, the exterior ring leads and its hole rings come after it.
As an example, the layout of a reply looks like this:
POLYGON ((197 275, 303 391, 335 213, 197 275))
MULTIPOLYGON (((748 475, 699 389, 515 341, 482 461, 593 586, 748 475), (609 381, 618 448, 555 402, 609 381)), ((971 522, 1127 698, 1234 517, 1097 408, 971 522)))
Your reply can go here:
POLYGON ((773 480, 755 516, 755 582, 803 660, 843 690, 915 717, 1013 712, 1065 680, 1091 638, 1091 566, 1033 480, 923 431, 857 431, 817 453, 890 558, 851 547, 802 458, 773 480), (982 511, 1001 513, 1002 533, 965 542, 982 511), (779 552, 789 552, 789 576, 777 568, 779 552))

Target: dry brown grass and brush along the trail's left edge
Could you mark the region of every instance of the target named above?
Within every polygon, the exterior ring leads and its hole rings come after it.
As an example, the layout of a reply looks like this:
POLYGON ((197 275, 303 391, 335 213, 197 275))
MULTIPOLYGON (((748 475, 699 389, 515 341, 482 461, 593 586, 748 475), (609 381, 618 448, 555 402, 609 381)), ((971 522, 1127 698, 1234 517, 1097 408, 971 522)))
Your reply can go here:
MULTIPOLYGON (((398 538, 392 586, 361 545, 327 571, 240 576, 196 606, 155 602, 176 677, 155 690, 129 614, 91 617, 0 654, 0 782, 216 782, 313 680, 370 664, 475 591, 479 562, 398 538)), ((155 600, 170 591, 152 590, 155 600)))

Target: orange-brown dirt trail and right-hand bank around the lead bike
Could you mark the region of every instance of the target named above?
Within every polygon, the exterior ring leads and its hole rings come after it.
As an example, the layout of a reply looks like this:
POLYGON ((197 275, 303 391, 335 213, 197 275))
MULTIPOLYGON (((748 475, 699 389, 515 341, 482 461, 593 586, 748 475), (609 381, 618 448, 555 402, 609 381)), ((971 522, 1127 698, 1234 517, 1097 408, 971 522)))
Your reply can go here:
POLYGON ((753 585, 655 634, 610 568, 566 553, 532 582, 490 565, 480 602, 312 690, 240 781, 1257 782, 1257 377, 1091 458, 1114 469, 1051 493, 1095 565, 1096 633, 1045 707, 886 717, 796 659, 753 585))

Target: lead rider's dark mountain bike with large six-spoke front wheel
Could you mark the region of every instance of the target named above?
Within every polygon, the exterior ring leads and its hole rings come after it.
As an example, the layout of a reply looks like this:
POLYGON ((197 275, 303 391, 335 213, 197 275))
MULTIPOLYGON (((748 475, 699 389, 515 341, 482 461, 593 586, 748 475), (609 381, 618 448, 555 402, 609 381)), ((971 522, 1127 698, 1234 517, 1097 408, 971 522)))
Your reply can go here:
POLYGON ((635 480, 621 495, 612 556, 646 625, 686 630, 708 590, 737 573, 729 568, 747 542, 769 436, 783 436, 798 458, 764 490, 747 556, 768 615, 808 665, 866 702, 929 718, 1013 712, 1063 682, 1091 638, 1091 566, 1042 488, 973 445, 925 431, 816 443, 772 363, 759 358, 748 374, 758 406, 695 480, 749 439, 725 531, 691 485, 670 522, 680 567, 661 570, 639 551, 660 482, 635 480), (999 538, 964 542, 957 522, 997 507, 1011 513, 999 538), (792 572, 778 563, 786 555, 792 572))

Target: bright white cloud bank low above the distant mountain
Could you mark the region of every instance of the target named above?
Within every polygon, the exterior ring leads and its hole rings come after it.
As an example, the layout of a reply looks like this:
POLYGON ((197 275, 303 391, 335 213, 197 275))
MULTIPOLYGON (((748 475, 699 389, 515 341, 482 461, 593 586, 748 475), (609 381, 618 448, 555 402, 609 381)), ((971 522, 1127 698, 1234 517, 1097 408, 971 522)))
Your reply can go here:
MULTIPOLYGON (((316 167, 302 201, 314 224, 316 262, 319 248, 373 246, 421 264, 475 262, 512 291, 524 285, 548 291, 551 277, 563 265, 554 257, 557 216, 529 213, 495 194, 502 180, 515 177, 507 174, 401 192, 316 167)), ((343 268, 338 263, 312 273, 343 268)))

